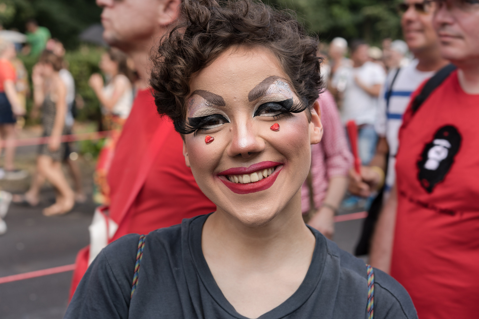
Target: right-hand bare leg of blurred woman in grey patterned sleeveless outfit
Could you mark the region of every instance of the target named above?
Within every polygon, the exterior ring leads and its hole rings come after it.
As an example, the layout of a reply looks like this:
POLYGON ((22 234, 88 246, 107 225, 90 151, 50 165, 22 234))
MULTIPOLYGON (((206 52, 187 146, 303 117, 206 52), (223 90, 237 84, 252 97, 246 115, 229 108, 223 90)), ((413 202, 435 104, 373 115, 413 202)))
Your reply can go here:
POLYGON ((46 216, 64 214, 75 204, 74 194, 63 175, 60 163, 46 155, 38 156, 38 171, 57 189, 57 202, 43 210, 46 216))

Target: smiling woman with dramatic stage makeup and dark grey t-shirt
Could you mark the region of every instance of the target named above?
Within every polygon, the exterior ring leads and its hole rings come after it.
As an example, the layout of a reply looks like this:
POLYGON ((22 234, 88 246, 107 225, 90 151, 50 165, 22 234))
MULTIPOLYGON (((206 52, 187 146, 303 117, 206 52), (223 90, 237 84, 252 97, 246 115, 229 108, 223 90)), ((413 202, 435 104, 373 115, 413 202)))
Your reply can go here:
POLYGON ((151 86, 217 210, 111 243, 65 318, 417 318, 394 279, 302 219, 322 136, 317 41, 261 2, 186 0, 181 12, 151 86))

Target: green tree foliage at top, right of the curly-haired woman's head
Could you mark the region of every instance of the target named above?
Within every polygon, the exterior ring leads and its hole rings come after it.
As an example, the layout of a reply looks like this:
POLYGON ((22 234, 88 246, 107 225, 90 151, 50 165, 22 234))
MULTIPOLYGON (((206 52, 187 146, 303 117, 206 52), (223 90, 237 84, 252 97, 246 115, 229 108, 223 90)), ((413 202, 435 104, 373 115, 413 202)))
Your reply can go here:
POLYGON ((336 36, 363 38, 379 44, 384 38, 399 38, 396 7, 401 0, 267 0, 270 4, 298 11, 322 41, 336 36))

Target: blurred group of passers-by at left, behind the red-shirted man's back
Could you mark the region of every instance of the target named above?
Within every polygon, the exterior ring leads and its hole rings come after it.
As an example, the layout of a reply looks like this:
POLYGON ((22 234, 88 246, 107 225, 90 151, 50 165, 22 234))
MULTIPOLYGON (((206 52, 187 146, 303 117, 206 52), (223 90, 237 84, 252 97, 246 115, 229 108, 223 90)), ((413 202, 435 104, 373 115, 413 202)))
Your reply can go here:
MULTIPOLYGON (((33 99, 29 118, 40 118, 42 137, 47 139, 38 147, 36 172, 28 191, 15 195, 0 192, 0 233, 6 231, 2 217, 6 215, 10 202, 37 206, 41 187, 46 180, 55 188, 57 197, 53 205, 43 210, 44 215, 67 213, 75 202, 86 200, 75 145, 62 142, 63 136, 74 134, 77 113, 75 80, 64 58, 66 50, 59 40, 51 37, 46 27, 39 26, 36 21, 28 21, 26 30, 25 35, 11 30, 0 31, 0 136, 5 152, 0 178, 18 180, 28 175, 14 165, 15 139, 25 123, 27 98, 33 99), (32 91, 28 72, 17 54, 33 57, 37 61, 31 74, 32 91), (68 167, 73 187, 64 176, 62 164, 68 167)), ((110 134, 104 143, 94 176, 94 198, 97 203, 106 203, 106 173, 114 145, 132 107, 136 74, 128 66, 125 53, 115 48, 103 54, 99 67, 103 75, 92 74, 89 85, 102 103, 100 127, 110 131, 110 134)))

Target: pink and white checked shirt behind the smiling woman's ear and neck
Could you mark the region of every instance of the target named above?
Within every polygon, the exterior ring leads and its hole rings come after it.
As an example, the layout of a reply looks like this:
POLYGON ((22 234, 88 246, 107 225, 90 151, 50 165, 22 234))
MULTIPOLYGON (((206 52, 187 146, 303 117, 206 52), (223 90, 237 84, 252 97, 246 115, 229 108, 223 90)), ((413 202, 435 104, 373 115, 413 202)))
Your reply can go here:
MULTIPOLYGON (((316 208, 321 206, 333 176, 347 176, 353 165, 353 155, 349 151, 345 130, 341 123, 336 102, 329 91, 319 95, 323 139, 311 145, 311 175, 316 208)), ((301 208, 303 214, 309 210, 309 189, 304 182, 301 187, 301 208)))

